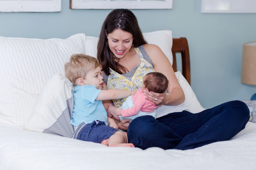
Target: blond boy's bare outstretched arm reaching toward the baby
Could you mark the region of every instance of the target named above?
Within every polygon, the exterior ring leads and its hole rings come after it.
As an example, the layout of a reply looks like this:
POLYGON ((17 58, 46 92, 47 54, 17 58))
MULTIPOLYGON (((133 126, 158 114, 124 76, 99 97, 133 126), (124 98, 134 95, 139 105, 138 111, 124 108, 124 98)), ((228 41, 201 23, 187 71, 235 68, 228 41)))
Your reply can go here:
POLYGON ((99 93, 99 95, 95 100, 126 98, 128 96, 134 95, 135 93, 136 93, 135 91, 121 90, 121 89, 101 90, 101 92, 99 93))

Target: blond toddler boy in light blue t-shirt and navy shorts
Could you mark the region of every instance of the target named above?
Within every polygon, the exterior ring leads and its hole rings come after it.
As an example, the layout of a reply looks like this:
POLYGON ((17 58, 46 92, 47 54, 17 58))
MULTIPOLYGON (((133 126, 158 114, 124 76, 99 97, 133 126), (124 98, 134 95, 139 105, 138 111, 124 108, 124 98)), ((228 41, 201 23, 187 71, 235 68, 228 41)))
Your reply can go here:
POLYGON ((65 64, 65 76, 74 86, 74 106, 70 121, 75 129, 74 138, 107 146, 134 147, 128 143, 126 132, 118 131, 116 122, 107 117, 102 100, 125 98, 136 92, 102 90, 104 83, 99 61, 85 54, 70 57, 65 64))

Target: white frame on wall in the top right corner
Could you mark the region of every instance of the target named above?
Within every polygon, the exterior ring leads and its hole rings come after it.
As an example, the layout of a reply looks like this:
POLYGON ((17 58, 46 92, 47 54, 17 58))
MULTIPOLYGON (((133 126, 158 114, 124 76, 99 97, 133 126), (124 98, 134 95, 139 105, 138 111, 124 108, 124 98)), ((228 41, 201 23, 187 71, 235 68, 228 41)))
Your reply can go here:
POLYGON ((201 0, 201 13, 256 13, 256 0, 201 0))

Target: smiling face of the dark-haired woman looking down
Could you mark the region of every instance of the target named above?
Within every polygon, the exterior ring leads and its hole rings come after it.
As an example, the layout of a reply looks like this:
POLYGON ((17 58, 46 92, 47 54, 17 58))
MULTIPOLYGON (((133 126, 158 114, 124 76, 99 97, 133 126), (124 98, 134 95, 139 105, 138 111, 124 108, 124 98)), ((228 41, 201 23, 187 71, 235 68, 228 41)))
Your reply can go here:
POLYGON ((118 59, 122 59, 131 50, 133 45, 133 35, 131 33, 116 29, 107 36, 108 46, 118 59))

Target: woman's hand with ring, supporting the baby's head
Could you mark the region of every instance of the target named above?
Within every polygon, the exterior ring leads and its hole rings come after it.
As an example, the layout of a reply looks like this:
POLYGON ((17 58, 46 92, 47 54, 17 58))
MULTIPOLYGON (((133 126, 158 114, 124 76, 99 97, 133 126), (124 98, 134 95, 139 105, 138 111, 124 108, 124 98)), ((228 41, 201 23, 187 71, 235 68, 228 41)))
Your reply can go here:
POLYGON ((166 100, 166 93, 155 93, 152 92, 148 89, 145 89, 144 91, 144 95, 146 95, 146 99, 148 99, 149 101, 152 101, 154 104, 156 105, 162 105, 165 103, 166 100))

